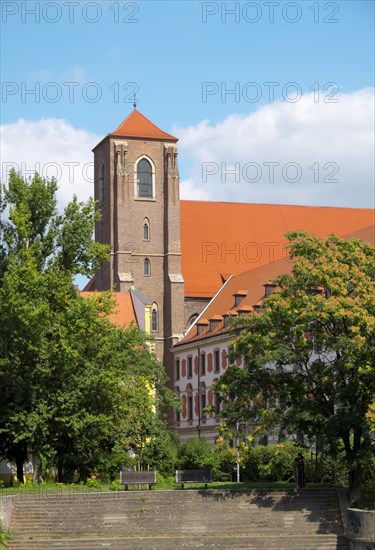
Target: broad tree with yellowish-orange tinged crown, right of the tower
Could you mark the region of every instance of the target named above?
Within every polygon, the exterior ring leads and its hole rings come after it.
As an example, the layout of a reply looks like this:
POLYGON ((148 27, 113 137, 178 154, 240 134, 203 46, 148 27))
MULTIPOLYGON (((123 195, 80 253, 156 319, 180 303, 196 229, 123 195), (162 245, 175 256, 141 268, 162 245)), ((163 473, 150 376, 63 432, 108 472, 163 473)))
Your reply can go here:
POLYGON ((231 365, 217 391, 228 422, 276 427, 345 449, 352 499, 373 452, 374 249, 359 240, 287 235, 290 274, 262 311, 233 323, 231 365))

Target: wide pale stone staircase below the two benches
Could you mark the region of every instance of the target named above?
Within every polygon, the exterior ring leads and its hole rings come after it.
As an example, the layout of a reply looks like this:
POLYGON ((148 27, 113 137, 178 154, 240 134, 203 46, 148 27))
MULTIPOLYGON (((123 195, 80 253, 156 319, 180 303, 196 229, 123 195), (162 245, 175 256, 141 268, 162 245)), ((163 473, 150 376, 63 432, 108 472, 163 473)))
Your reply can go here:
POLYGON ((349 550, 335 490, 23 495, 9 550, 349 550))

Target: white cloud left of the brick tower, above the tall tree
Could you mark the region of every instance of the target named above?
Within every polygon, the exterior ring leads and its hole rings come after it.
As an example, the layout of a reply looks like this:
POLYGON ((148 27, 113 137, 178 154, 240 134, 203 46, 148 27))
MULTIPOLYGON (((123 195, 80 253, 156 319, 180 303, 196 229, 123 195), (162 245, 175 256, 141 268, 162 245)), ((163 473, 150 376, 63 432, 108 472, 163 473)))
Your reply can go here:
POLYGON ((60 209, 77 195, 80 200, 93 196, 92 148, 103 136, 74 128, 63 119, 29 121, 20 119, 0 127, 1 179, 13 166, 23 175, 35 171, 58 179, 60 209))

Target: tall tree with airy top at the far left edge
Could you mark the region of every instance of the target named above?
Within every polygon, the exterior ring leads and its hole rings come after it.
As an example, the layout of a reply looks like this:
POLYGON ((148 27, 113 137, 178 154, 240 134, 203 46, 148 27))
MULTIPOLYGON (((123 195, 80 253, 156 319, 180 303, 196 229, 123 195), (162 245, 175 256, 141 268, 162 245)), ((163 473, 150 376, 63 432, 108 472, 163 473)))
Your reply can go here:
POLYGON ((26 181, 15 171, 8 186, 0 186, 0 449, 15 459, 20 481, 30 438, 44 438, 45 411, 32 404, 53 326, 52 302, 63 299, 59 288, 76 295, 73 275, 94 273, 107 257, 92 238, 99 218, 94 202, 74 197, 59 215, 56 190, 54 179, 36 174, 26 181))

